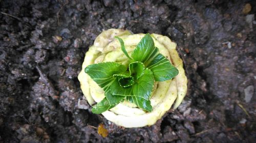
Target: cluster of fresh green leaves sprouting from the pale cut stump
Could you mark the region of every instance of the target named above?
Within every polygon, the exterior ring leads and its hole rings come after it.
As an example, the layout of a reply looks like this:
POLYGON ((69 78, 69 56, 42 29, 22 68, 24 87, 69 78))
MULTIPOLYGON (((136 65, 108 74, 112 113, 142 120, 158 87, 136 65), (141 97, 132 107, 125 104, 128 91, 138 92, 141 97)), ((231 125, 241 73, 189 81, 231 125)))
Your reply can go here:
POLYGON ((104 90, 105 98, 93 106, 93 113, 102 113, 123 100, 135 103, 139 108, 152 111, 150 102, 155 81, 174 78, 179 71, 155 47, 153 38, 146 34, 131 54, 126 52, 124 42, 121 50, 129 59, 125 67, 115 62, 89 65, 84 71, 104 90))

